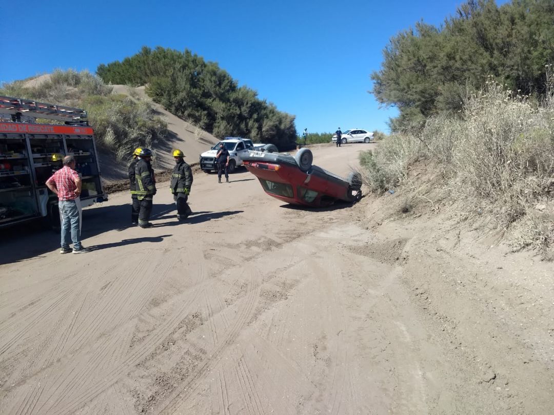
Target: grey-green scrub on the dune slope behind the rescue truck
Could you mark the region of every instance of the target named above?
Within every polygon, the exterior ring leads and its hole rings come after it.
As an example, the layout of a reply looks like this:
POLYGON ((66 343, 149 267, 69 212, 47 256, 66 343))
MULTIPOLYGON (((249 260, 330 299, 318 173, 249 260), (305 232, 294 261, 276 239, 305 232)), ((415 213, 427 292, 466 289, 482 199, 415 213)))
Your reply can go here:
POLYGON ((156 116, 150 103, 111 91, 100 77, 70 69, 56 70, 41 82, 27 79, 4 84, 0 94, 84 108, 98 146, 119 159, 137 146, 150 147, 152 141, 167 136, 165 121, 156 116))

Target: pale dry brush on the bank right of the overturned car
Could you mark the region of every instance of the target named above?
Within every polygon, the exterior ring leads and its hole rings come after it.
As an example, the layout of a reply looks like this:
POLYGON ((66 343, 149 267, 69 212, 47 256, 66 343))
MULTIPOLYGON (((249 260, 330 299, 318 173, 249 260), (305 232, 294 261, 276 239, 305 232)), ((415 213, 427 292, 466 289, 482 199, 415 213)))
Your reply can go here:
POLYGON ((422 131, 394 134, 360 160, 372 191, 408 184, 410 169, 424 164, 464 219, 494 219, 495 227, 511 231, 515 248, 547 255, 552 247, 552 93, 538 103, 487 82, 468 94, 460 117, 430 118, 422 131))

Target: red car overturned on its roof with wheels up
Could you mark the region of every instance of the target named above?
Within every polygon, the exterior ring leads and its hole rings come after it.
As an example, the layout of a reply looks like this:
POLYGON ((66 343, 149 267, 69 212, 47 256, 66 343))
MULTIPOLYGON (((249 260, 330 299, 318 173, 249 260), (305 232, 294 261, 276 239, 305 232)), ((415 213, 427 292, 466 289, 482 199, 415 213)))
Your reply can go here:
POLYGON ((362 198, 360 173, 347 179, 312 165, 310 149, 289 154, 251 151, 242 156, 247 170, 254 174, 265 193, 293 205, 329 206, 337 200, 355 203, 362 198))

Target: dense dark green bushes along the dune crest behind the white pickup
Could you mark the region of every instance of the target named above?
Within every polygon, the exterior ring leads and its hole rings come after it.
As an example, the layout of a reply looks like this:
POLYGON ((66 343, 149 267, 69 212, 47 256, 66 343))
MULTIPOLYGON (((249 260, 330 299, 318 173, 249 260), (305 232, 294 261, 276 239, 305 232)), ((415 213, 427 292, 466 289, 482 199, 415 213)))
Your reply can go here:
POLYGON ((217 137, 249 137, 280 148, 295 142, 294 116, 189 50, 143 47, 121 62, 99 65, 96 73, 113 84, 146 85, 155 102, 217 137))

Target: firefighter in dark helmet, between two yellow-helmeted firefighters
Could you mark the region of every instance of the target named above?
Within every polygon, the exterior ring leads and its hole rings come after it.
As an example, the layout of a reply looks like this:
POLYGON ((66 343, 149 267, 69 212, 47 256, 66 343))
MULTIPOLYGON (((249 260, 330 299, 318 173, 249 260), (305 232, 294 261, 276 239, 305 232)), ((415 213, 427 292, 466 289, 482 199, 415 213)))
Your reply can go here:
POLYGON ((156 194, 156 183, 152 174, 152 152, 143 148, 137 154, 139 160, 135 165, 135 192, 139 199, 139 226, 142 228, 153 226, 150 222, 152 213, 152 198, 156 194))

